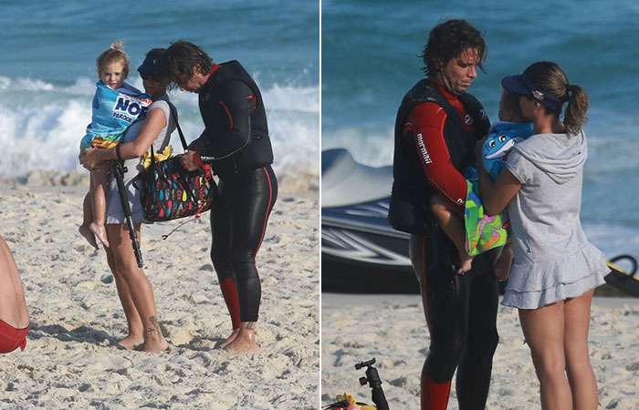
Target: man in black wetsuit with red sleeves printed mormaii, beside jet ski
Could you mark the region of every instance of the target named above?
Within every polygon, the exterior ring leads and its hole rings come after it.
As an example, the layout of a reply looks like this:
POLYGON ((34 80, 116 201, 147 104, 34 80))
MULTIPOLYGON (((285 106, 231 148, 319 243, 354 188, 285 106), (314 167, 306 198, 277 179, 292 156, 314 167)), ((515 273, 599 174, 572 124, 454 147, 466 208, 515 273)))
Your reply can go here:
POLYGON ((422 55, 427 78, 403 97, 395 123, 389 222, 411 233, 410 256, 420 283, 431 343, 422 369, 422 410, 444 410, 453 374, 460 410, 486 405, 496 327, 498 282, 486 254, 457 275, 459 254, 431 214, 438 193, 463 215, 464 172, 475 165, 487 134, 484 108, 466 93, 486 56, 483 36, 465 20, 431 31, 422 55))

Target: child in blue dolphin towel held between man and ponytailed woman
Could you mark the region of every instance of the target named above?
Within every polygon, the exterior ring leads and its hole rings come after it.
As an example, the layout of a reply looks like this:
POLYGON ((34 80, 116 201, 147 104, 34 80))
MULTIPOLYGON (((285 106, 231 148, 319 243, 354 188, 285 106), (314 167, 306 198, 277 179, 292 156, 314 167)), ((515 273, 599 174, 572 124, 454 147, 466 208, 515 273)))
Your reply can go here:
MULTIPOLYGON (((523 138, 532 134, 529 120, 524 118, 519 108, 519 96, 504 90, 499 100, 499 121, 494 123, 488 131, 488 136, 482 146, 482 164, 484 169, 493 179, 497 179, 499 172, 504 168, 508 151, 523 138)), ((475 171, 477 171, 475 169, 475 171)), ((472 173, 472 172, 471 172, 472 173)), ((477 179, 477 177, 471 177, 477 179)), ((470 179, 466 175, 466 179, 470 179)), ((470 183, 470 182, 468 182, 470 183)), ((465 216, 458 213, 452 204, 449 204, 441 195, 435 195, 431 199, 431 210, 439 225, 446 235, 455 243, 459 252, 460 267, 457 274, 470 271, 474 256, 468 253, 465 216)), ((508 278, 510 265, 512 264, 512 251, 510 242, 494 252, 494 275, 498 280, 508 278)))

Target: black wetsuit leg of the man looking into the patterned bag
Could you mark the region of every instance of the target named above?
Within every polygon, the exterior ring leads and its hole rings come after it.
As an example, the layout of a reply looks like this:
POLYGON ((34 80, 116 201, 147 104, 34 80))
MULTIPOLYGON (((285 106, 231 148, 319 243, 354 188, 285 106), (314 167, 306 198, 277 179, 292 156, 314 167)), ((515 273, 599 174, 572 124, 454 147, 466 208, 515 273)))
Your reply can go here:
POLYGON ((220 178, 218 190, 211 212, 211 259, 220 284, 229 277, 235 284, 239 321, 257 322, 261 285, 256 255, 278 197, 278 181, 267 166, 220 178))

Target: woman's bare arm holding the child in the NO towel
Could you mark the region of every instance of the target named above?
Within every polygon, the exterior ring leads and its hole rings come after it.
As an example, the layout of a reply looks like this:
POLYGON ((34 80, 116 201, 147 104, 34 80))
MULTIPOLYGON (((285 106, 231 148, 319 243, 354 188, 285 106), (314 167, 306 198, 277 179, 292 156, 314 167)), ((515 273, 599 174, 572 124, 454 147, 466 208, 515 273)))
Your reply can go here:
MULTIPOLYGON (((162 128, 166 126, 166 117, 162 108, 153 108, 146 114, 146 119, 140 130, 140 134, 131 142, 120 144, 121 159, 140 158, 151 148, 155 138, 160 135, 162 128)), ((86 149, 80 154, 80 163, 86 169, 93 169, 100 162, 118 159, 115 148, 112 149, 86 149), (85 152, 86 151, 86 152, 85 152)))

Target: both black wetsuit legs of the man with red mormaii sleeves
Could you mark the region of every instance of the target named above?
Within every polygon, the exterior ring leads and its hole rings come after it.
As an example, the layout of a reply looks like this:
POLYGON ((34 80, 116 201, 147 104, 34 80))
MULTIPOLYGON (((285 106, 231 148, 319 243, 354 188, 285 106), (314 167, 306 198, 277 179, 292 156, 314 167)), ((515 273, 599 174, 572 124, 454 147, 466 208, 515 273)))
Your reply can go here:
POLYGON ((455 245, 443 231, 437 229, 434 234, 434 241, 419 235, 410 240, 431 337, 422 373, 436 384, 445 384, 457 369, 460 410, 483 409, 498 343, 498 282, 486 254, 473 260, 470 272, 457 275, 455 245))

